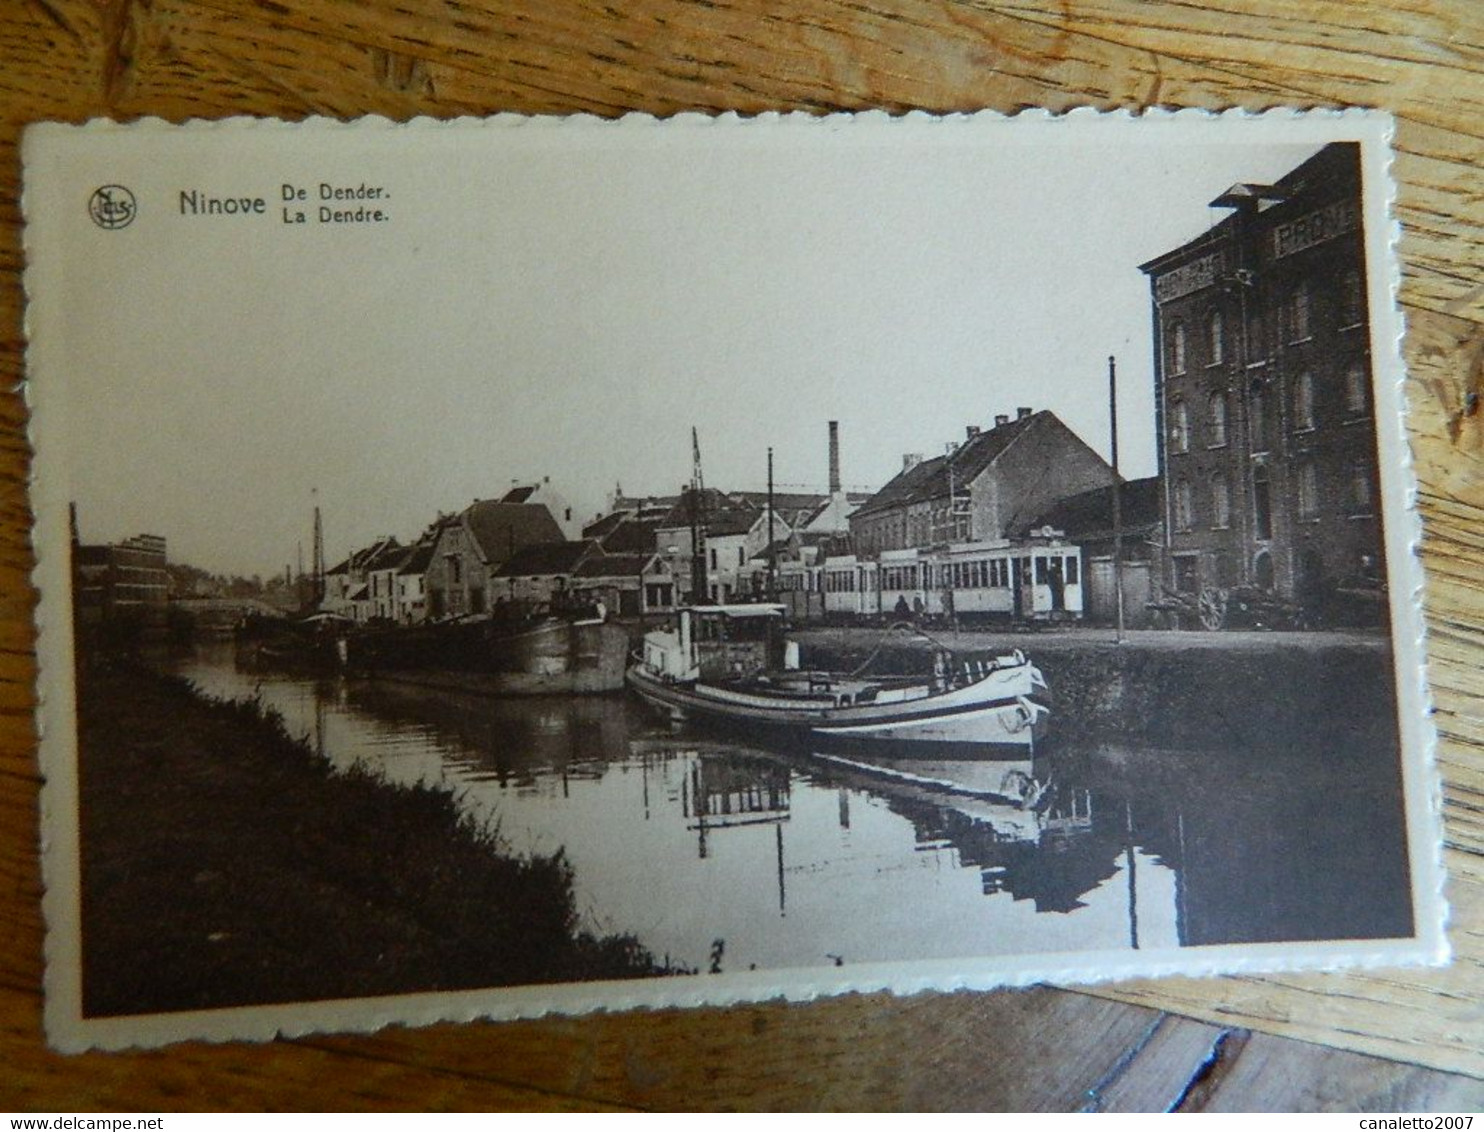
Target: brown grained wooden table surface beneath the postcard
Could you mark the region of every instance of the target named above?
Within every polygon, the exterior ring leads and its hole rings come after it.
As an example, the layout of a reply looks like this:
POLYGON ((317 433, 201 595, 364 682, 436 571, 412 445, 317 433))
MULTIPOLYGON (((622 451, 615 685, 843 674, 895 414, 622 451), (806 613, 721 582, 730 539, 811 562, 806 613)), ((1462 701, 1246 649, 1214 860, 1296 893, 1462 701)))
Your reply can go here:
POLYGON ((25 411, 0 395, 0 1108, 1484 1107, 1484 4, 4 0, 0 375, 21 128, 95 116, 1367 105, 1398 116, 1447 970, 390 1030, 61 1058, 42 920, 25 411))

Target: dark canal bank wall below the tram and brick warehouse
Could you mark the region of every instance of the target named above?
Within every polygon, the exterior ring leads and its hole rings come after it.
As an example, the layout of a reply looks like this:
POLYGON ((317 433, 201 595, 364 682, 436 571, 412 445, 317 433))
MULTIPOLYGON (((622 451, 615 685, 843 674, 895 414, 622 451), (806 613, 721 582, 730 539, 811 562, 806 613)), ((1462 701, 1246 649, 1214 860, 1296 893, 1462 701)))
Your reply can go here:
POLYGON ((806 668, 930 672, 933 653, 960 659, 1024 651, 1051 687, 1055 734, 1159 746, 1275 746, 1322 737, 1327 748, 1396 742, 1389 641, 1380 634, 953 632, 804 629, 806 668))

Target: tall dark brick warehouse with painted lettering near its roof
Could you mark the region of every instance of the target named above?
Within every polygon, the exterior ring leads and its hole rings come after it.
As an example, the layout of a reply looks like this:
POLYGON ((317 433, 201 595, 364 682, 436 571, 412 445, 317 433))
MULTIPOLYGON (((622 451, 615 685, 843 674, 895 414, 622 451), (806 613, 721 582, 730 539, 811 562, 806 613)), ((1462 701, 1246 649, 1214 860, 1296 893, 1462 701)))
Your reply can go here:
POLYGON ((1165 585, 1374 620, 1383 583, 1359 150, 1333 144, 1143 264, 1165 585))

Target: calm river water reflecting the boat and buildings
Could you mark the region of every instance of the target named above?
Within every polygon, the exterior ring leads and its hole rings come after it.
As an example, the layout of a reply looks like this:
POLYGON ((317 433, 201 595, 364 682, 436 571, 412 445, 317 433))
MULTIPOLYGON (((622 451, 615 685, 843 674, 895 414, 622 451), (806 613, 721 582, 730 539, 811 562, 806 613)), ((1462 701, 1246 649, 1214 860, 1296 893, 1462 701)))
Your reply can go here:
POLYGON ((626 696, 266 675, 230 647, 175 671, 338 767, 450 789, 515 853, 561 850, 588 929, 696 970, 1411 933, 1385 745, 865 763, 677 731, 626 696), (1028 780, 1034 807, 1000 797, 1028 780))

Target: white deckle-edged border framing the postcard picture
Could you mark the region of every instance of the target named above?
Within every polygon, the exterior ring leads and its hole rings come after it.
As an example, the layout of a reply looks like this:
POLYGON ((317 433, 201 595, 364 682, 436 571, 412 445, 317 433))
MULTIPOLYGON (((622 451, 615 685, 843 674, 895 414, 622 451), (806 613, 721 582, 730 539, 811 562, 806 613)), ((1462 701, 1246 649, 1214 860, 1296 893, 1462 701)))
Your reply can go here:
MULTIPOLYGON (((372 1031, 390 1024, 420 1025, 441 1021, 518 1019, 542 1015, 579 1015, 595 1010, 638 1007, 726 1006, 775 998, 810 1000, 850 991, 887 990, 896 994, 922 991, 990 990, 1031 982, 1092 984, 1160 975, 1258 975, 1294 970, 1340 970, 1350 967, 1441 964, 1448 958, 1444 930, 1441 859, 1441 786, 1434 761, 1435 731, 1429 723, 1422 619, 1422 567, 1416 555, 1420 521, 1413 506, 1414 482, 1405 439, 1405 393, 1401 359, 1401 313, 1396 292, 1401 272, 1395 254, 1398 224, 1392 217, 1395 187, 1391 180, 1391 116, 1377 111, 1290 111, 1261 114, 1226 111, 1147 111, 1143 114, 1074 110, 1055 116, 1024 111, 1011 117, 976 114, 929 116, 910 113, 892 117, 871 111, 812 117, 807 114, 736 114, 708 117, 681 114, 659 120, 631 114, 616 122, 589 116, 430 120, 393 123, 386 119, 356 122, 307 120, 283 123, 257 119, 188 122, 171 125, 156 119, 119 125, 92 122, 85 126, 42 123, 31 126, 22 144, 25 191, 27 292, 27 402, 31 411, 30 439, 34 451, 31 501, 36 515, 34 583, 37 607, 37 656, 40 666, 37 723, 40 728, 42 858, 46 914, 46 1033, 59 1050, 125 1049, 157 1046, 187 1039, 208 1041, 269 1040, 315 1031, 372 1031), (1291 142, 1361 144, 1362 211, 1370 280, 1371 358, 1377 387, 1377 445, 1380 454, 1383 528, 1391 579, 1392 650, 1398 693, 1407 844, 1411 866, 1413 912, 1417 935, 1405 941, 1263 944, 1241 947, 1181 948, 1141 952, 1088 951, 1074 954, 1002 955, 984 960, 877 963, 844 969, 809 967, 736 975, 696 975, 626 982, 585 982, 484 991, 423 993, 383 998, 285 1003, 223 1010, 166 1015, 83 1018, 80 979, 80 846, 79 783, 76 773, 76 688, 73 684, 71 598, 68 576, 68 482, 59 439, 67 436, 64 408, 47 396, 47 383, 64 380, 50 361, 43 325, 61 325, 61 310, 52 304, 59 294, 58 267, 47 249, 61 233, 47 230, 46 211, 30 199, 37 171, 74 144, 99 134, 145 135, 177 131, 211 132, 460 132, 542 129, 623 144, 665 144, 678 132, 738 131, 758 142, 818 134, 821 144, 831 135, 855 131, 933 129, 957 132, 963 141, 1000 136, 1003 131, 1039 132, 1046 145, 1077 145, 1097 138, 1107 142, 1117 131, 1160 132, 1169 144, 1180 139, 1242 144, 1291 142), (647 136, 646 136, 647 134, 647 136), (1386 399, 1389 398, 1389 401, 1386 399)), ((1143 136, 1147 141, 1147 136, 1143 136)), ((450 136, 450 141, 453 138, 450 136)))

